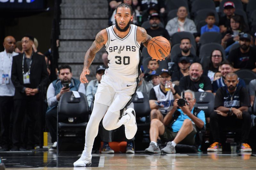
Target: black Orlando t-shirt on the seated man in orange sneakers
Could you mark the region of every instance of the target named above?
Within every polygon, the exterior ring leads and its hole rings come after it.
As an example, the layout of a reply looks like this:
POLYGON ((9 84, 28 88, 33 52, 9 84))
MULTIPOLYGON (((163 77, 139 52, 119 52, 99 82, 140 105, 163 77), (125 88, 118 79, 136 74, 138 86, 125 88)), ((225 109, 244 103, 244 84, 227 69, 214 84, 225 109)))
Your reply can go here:
POLYGON ((235 108, 242 106, 250 107, 249 93, 246 88, 242 86, 236 87, 236 91, 233 94, 228 92, 227 86, 220 87, 215 95, 214 108, 216 109, 220 106, 235 108))

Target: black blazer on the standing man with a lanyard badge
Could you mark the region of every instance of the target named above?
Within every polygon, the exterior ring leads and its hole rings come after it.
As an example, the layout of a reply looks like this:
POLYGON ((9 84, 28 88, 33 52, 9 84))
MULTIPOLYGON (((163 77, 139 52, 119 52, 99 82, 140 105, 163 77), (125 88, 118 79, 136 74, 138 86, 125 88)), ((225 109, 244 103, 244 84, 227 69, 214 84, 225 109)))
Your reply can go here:
MULTIPOLYGON (((48 72, 46 69, 44 56, 37 53, 33 54, 30 67, 30 84, 24 84, 22 74, 23 54, 24 53, 21 53, 19 55, 13 56, 12 58, 11 80, 15 87, 14 99, 25 99, 27 97, 39 98, 38 93, 35 96, 26 96, 26 93, 22 91, 24 87, 35 89, 38 88, 39 85, 46 86, 48 81, 48 72)), ((26 73, 27 71, 28 65, 26 60, 24 60, 24 73, 26 73)))

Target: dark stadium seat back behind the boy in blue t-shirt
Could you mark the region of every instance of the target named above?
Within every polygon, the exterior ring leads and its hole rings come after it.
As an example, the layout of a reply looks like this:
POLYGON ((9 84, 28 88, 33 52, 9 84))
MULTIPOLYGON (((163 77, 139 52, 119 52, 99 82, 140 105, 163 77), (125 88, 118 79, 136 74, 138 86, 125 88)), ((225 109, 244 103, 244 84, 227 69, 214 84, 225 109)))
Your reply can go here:
POLYGON ((219 15, 215 10, 212 10, 212 9, 203 9, 203 10, 196 11, 195 19, 194 19, 195 24, 197 25, 200 21, 205 21, 207 14, 209 12, 214 13, 215 25, 218 26, 219 25, 219 15))

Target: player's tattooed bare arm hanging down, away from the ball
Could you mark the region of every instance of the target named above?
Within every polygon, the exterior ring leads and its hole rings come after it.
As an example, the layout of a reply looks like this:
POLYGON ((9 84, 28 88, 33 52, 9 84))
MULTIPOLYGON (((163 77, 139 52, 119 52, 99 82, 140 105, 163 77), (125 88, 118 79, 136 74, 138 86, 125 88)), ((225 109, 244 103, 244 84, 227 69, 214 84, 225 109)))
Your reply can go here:
POLYGON ((92 43, 92 46, 88 49, 88 51, 84 56, 84 68, 90 67, 96 53, 103 47, 104 45, 103 42, 104 42, 104 38, 102 36, 102 33, 100 32, 96 35, 96 38, 92 43))

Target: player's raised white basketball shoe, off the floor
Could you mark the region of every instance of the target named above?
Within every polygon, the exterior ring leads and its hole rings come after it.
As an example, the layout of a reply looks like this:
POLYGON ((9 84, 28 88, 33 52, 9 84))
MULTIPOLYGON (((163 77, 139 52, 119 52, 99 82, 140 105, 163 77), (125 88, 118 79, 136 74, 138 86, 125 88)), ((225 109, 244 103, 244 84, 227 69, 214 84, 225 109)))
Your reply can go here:
POLYGON ((132 139, 137 132, 137 124, 135 118, 135 111, 133 108, 128 108, 125 110, 124 115, 128 114, 130 116, 130 120, 124 123, 125 127, 125 136, 127 139, 132 139))

